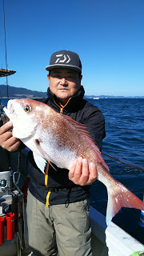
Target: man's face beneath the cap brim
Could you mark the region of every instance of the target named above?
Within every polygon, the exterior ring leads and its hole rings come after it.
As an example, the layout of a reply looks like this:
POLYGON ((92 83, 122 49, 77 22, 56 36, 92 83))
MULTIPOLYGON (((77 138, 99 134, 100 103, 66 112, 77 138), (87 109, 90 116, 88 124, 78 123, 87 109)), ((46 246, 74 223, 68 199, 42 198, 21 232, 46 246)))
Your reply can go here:
POLYGON ((82 76, 74 70, 58 68, 51 70, 47 78, 50 91, 64 105, 70 97, 78 93, 82 76))

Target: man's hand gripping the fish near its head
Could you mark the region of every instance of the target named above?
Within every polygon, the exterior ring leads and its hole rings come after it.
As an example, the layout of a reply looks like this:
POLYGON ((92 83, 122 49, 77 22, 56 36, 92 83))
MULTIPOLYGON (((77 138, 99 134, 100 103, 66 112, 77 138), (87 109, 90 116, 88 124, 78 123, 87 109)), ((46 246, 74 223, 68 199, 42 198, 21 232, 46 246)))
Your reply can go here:
POLYGON ((13 123, 9 121, 0 127, 0 146, 10 152, 18 150, 18 146, 21 144, 18 138, 13 137, 12 126, 13 123))

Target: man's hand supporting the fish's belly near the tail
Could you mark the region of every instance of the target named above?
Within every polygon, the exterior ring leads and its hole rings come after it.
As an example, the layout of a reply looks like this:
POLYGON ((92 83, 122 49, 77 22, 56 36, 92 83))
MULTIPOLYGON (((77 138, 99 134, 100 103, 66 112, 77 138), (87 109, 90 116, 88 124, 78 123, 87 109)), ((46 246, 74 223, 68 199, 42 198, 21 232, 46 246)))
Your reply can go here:
POLYGON ((80 186, 92 184, 97 179, 97 176, 94 163, 90 162, 89 165, 86 158, 75 160, 69 171, 70 180, 80 186))

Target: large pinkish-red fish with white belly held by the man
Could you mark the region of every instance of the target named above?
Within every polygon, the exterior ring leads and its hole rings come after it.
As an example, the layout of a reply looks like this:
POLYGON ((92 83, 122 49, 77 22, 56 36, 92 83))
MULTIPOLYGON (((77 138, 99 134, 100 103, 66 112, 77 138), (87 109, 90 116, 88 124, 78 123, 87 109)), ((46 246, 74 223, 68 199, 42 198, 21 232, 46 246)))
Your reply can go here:
POLYGON ((110 175, 98 146, 82 124, 31 99, 10 100, 4 110, 13 122, 13 136, 33 151, 34 161, 42 172, 46 161, 67 170, 78 157, 94 162, 98 180, 108 192, 107 225, 122 207, 144 210, 144 203, 110 175))

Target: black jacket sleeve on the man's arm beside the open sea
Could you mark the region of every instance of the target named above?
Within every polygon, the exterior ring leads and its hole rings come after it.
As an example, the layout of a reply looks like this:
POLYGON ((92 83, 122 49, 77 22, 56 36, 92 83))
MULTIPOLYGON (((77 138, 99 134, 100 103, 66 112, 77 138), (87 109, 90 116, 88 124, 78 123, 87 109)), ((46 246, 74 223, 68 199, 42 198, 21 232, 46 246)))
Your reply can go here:
POLYGON ((102 151, 102 139, 106 137, 105 118, 97 107, 84 114, 84 125, 89 132, 90 137, 94 140, 99 150, 102 151))

